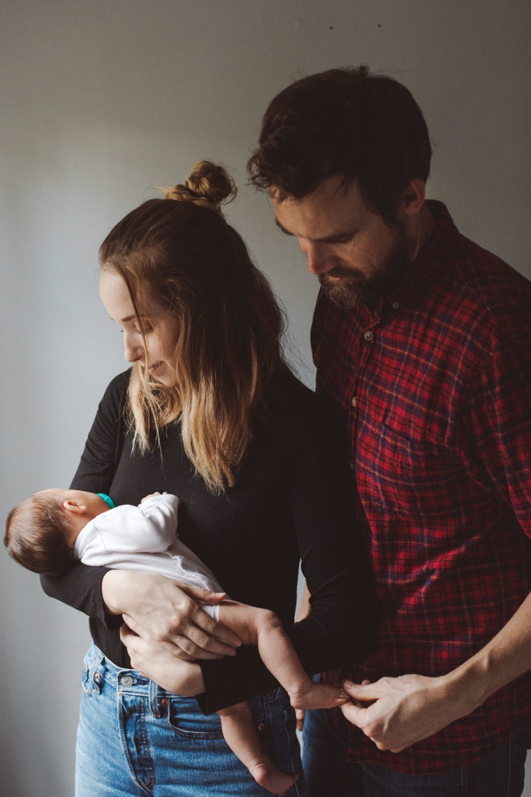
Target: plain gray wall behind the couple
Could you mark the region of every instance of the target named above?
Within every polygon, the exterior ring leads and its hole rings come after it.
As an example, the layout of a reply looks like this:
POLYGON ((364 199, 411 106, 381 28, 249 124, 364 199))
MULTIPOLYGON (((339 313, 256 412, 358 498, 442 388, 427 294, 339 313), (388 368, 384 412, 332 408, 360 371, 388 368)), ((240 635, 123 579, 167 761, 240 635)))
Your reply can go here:
MULTIPOLYGON (((359 63, 402 80, 435 145, 428 195, 531 277, 530 22, 526 0, 3 0, 2 516, 68 485, 124 368, 97 295, 100 241, 197 159, 235 176, 228 217, 283 300, 312 384, 314 277, 245 186, 260 118, 291 80, 359 63)), ((6 555, 0 568, 0 788, 70 797, 87 621, 6 555)))

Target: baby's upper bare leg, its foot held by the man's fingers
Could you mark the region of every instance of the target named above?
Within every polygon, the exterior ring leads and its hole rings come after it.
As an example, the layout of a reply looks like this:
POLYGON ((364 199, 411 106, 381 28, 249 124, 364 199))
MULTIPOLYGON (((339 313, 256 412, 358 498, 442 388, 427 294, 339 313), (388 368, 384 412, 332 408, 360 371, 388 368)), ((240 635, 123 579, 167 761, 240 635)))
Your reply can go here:
POLYGON ((340 687, 311 680, 275 612, 228 600, 220 605, 220 622, 244 645, 258 646, 260 658, 286 689, 295 709, 331 709, 349 700, 340 687))

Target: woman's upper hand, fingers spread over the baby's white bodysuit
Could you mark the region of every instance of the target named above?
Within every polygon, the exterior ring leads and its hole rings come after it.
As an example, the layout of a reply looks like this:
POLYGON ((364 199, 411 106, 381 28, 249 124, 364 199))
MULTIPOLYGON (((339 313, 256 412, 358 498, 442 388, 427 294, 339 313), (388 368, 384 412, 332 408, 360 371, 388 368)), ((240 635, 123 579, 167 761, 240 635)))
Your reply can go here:
POLYGON ((236 655, 240 639, 201 609, 225 593, 182 584, 165 575, 110 570, 101 584, 109 614, 123 614, 129 628, 184 660, 236 655))

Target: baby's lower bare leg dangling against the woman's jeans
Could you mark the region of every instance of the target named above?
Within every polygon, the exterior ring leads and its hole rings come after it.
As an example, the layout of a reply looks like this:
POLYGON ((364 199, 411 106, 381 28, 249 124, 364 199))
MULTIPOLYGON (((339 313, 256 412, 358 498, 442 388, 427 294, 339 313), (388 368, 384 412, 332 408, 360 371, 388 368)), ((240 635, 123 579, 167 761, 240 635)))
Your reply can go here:
POLYGON ((267 758, 252 724, 248 703, 236 703, 228 709, 221 709, 218 714, 228 747, 245 764, 256 783, 275 795, 283 795, 293 786, 299 775, 295 772, 284 772, 267 758))

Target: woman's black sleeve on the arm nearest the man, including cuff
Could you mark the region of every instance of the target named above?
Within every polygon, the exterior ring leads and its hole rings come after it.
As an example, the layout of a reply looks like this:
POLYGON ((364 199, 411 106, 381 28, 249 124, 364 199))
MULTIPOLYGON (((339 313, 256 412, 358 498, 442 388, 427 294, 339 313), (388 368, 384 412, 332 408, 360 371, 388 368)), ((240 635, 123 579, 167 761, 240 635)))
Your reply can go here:
MULTIPOLYGON (((353 480, 338 426, 322 403, 292 442, 297 450, 292 512, 310 615, 287 634, 310 675, 352 664, 369 653, 377 630, 377 600, 369 558, 356 524, 353 480)), ((236 657, 201 662, 205 713, 277 685, 256 648, 236 657)))

